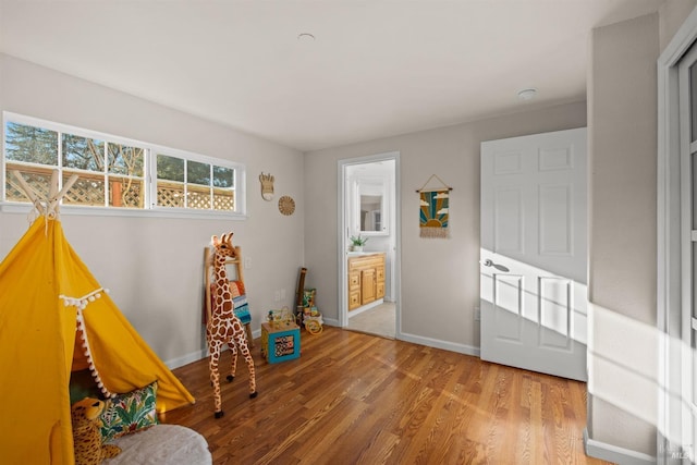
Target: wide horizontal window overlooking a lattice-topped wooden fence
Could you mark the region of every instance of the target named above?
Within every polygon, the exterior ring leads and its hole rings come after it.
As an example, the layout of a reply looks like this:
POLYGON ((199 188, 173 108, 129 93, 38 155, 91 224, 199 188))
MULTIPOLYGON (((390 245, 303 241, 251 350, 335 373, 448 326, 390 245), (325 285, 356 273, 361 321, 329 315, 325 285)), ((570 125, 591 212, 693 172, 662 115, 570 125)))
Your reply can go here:
POLYGON ((46 197, 58 170, 65 206, 244 215, 244 167, 197 154, 4 113, 3 161, 5 204, 29 201, 12 171, 46 197))

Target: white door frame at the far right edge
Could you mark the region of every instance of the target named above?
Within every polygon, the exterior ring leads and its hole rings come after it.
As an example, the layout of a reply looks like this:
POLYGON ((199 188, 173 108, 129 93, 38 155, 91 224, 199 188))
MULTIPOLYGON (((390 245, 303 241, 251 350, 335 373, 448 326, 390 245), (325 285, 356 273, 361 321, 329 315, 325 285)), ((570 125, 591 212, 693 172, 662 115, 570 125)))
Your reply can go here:
POLYGON ((697 39, 697 9, 658 60, 658 241, 659 331, 658 464, 681 463, 683 358, 681 311, 681 170, 677 64, 697 39))

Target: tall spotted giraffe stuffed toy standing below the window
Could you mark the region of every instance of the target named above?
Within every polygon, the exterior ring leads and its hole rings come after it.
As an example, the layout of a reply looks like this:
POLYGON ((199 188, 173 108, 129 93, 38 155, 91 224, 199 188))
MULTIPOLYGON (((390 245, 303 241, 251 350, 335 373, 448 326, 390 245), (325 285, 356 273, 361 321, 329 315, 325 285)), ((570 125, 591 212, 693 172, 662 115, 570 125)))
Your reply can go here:
POLYGON ((233 311, 232 292, 230 291, 228 270, 225 269, 225 259, 228 257, 234 258, 236 254, 235 248, 232 246, 232 232, 223 234, 220 238, 212 236, 216 285, 211 315, 206 326, 206 338, 208 339, 208 352, 210 352, 210 381, 213 384, 216 418, 223 416, 220 399, 220 371, 218 369, 223 344, 228 344, 232 351, 232 368, 230 375, 228 375, 228 381, 232 381, 235 377, 237 351, 240 351, 249 368, 249 397, 257 396, 254 359, 247 345, 244 327, 233 311))

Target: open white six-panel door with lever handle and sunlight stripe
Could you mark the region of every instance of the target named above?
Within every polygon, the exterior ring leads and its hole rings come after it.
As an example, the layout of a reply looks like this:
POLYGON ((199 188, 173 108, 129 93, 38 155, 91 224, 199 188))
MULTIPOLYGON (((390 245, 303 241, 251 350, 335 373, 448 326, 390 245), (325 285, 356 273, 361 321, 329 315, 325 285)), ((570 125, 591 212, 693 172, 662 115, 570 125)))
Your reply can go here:
POLYGON ((586 129, 481 144, 481 358, 585 381, 586 129))

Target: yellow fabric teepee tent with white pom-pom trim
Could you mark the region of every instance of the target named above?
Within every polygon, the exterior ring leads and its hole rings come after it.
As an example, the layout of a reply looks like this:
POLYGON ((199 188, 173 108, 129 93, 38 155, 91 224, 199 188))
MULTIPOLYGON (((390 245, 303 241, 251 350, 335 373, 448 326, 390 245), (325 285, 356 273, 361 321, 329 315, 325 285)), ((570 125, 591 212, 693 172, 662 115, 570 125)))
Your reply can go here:
POLYGON ((0 264, 0 462, 73 464, 69 382, 76 325, 106 393, 158 381, 157 409, 194 397, 44 213, 0 264))

